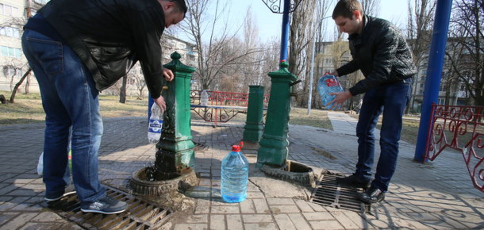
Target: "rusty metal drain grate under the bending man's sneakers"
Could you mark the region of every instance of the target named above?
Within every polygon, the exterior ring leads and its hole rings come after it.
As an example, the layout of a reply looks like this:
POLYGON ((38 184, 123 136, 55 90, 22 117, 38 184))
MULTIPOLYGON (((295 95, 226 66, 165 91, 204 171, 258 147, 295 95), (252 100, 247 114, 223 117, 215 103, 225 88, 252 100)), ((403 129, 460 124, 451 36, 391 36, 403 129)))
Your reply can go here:
POLYGON ((62 217, 76 222, 89 230, 148 230, 158 229, 173 214, 157 205, 136 198, 117 189, 106 187, 108 196, 127 202, 128 210, 121 214, 83 213, 75 194, 62 198, 59 201, 44 202, 44 205, 53 209, 62 217))

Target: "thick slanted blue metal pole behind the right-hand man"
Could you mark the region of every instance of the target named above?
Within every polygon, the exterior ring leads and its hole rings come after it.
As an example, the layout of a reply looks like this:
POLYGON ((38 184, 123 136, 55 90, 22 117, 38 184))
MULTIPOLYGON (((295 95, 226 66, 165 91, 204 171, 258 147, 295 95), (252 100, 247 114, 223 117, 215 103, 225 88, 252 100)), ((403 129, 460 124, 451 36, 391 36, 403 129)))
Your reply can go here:
POLYGON ((423 92, 422 111, 420 115, 419 134, 415 147, 414 160, 423 162, 425 144, 429 127, 432 103, 437 104, 439 99, 440 75, 447 42, 447 31, 452 9, 452 0, 438 0, 435 10, 434 31, 432 33, 432 45, 428 57, 427 78, 425 79, 425 91, 423 92))

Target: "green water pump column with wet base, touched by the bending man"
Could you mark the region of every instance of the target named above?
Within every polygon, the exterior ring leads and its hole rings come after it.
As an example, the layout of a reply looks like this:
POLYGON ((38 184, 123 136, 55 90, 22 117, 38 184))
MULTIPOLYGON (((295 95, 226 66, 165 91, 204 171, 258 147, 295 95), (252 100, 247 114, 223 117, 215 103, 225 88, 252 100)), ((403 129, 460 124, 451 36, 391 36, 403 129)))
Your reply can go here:
POLYGON ((190 129, 190 79, 195 68, 184 65, 181 55, 171 54, 169 63, 164 67, 175 75, 168 87, 163 90, 166 111, 160 141, 156 144, 155 167, 166 173, 182 173, 194 166, 195 153, 190 129))

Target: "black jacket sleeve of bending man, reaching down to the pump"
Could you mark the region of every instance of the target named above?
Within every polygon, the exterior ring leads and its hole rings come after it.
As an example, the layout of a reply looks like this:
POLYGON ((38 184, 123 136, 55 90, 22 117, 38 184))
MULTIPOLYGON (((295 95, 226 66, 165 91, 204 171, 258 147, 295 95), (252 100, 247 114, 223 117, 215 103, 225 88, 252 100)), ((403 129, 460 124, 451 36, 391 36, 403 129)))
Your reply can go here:
POLYGON ((141 69, 152 98, 158 98, 162 88, 161 64, 161 33, 150 21, 156 18, 154 11, 136 11, 131 18, 132 30, 136 46, 136 57, 140 61, 141 69))

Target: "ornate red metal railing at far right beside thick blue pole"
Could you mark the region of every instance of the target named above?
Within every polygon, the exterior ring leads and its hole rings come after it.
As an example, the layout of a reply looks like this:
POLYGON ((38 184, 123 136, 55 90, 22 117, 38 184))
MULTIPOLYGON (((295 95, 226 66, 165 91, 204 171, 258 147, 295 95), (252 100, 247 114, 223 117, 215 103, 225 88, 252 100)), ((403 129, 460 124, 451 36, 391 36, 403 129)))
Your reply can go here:
POLYGON ((474 187, 484 192, 484 107, 432 105, 425 160, 446 148, 462 153, 474 187))

